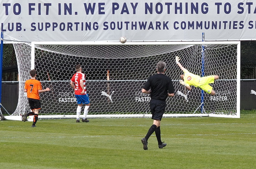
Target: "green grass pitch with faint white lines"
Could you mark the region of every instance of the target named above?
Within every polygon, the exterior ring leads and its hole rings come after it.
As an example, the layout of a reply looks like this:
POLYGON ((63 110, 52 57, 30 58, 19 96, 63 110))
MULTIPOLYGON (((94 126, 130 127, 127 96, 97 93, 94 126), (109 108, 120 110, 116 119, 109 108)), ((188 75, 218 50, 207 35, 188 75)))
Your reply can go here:
POLYGON ((149 118, 0 121, 0 168, 255 168, 256 114, 240 119, 164 118, 143 150, 149 118))

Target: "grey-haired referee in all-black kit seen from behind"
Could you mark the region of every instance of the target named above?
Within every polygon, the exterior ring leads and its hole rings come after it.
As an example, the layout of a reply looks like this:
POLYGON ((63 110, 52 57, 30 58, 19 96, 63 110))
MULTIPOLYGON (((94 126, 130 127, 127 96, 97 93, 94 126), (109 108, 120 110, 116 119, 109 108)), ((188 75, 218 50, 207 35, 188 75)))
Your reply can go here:
POLYGON ((160 61, 156 65, 157 74, 150 76, 142 88, 142 92, 150 94, 150 111, 152 114, 153 125, 149 128, 147 135, 141 139, 143 149, 148 150, 148 138, 155 132, 158 148, 163 148, 166 143, 161 141, 160 123, 163 117, 166 98, 174 96, 172 80, 167 77, 165 72, 166 64, 160 61))

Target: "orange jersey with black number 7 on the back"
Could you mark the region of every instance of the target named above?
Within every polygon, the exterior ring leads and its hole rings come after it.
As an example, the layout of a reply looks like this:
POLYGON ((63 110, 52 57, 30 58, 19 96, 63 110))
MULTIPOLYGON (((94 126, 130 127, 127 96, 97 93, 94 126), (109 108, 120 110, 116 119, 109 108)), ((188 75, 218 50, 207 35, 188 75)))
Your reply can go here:
POLYGON ((36 79, 29 79, 25 82, 27 97, 32 99, 40 99, 38 90, 42 90, 41 82, 36 79))

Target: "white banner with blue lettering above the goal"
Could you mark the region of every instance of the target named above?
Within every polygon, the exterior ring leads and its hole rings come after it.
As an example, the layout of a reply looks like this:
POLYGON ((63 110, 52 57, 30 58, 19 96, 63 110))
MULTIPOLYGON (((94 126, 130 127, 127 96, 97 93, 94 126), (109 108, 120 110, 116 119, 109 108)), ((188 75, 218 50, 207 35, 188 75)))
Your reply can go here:
POLYGON ((256 40, 254 0, 0 2, 0 30, 22 41, 256 40))

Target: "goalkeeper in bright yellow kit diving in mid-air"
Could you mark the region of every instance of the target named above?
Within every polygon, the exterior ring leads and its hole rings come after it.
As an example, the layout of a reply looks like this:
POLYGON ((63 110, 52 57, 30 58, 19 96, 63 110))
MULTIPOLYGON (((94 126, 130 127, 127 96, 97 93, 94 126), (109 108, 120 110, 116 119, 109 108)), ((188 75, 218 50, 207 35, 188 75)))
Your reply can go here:
POLYGON ((212 87, 209 83, 214 83, 215 80, 219 79, 218 75, 211 75, 200 77, 199 75, 195 75, 193 73, 188 72, 180 63, 180 58, 176 56, 176 63, 180 67, 180 69, 184 72, 184 74, 180 75, 180 84, 185 86, 188 90, 191 90, 191 86, 195 86, 201 88, 203 91, 208 94, 215 95, 215 91, 212 90, 212 87))

